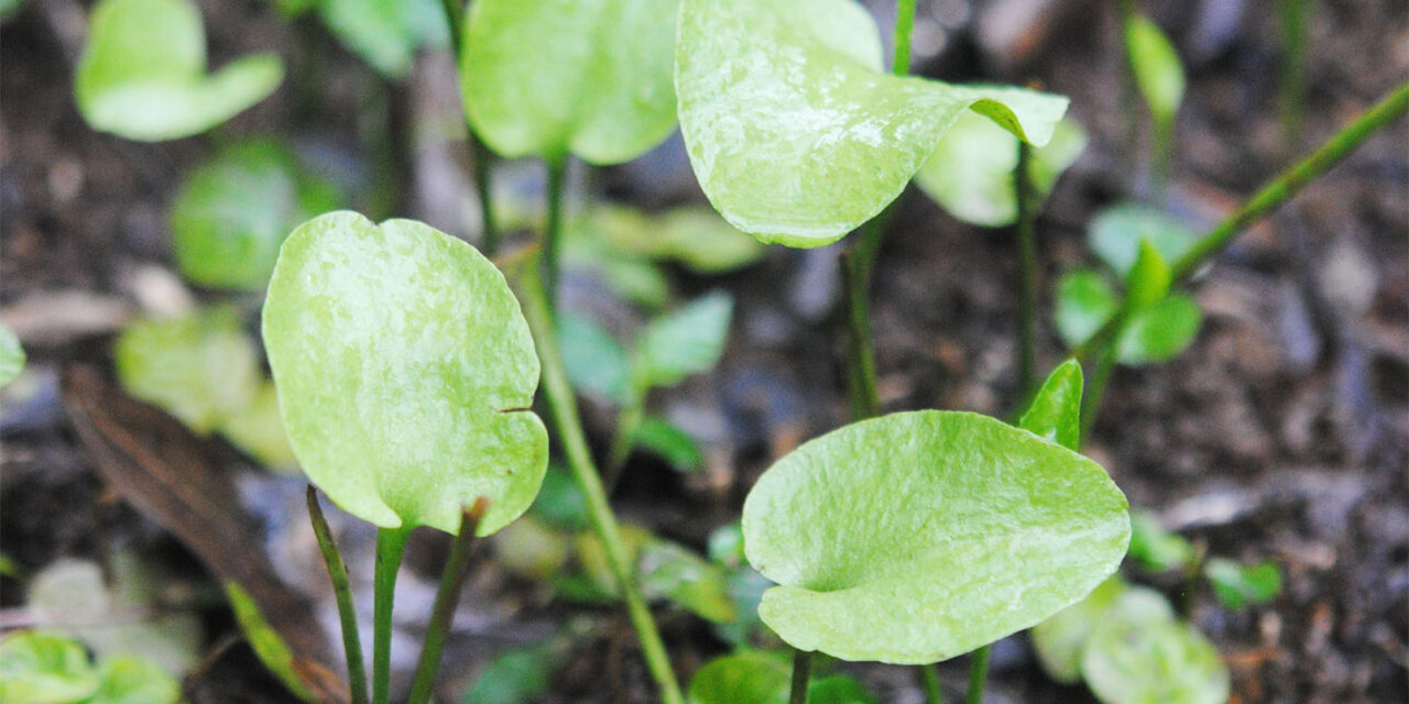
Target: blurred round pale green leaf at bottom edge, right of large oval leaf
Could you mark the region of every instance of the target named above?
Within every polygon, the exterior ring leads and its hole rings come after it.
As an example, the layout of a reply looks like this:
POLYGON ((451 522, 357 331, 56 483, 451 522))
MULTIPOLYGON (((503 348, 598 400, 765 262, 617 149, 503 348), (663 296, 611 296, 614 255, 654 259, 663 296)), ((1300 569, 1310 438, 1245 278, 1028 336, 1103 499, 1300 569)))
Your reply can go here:
POLYGON ((1106 704, 1223 704, 1229 670, 1196 628, 1175 621, 1162 596, 1131 589, 1096 624, 1082 676, 1106 704), (1161 607, 1162 604, 1162 607, 1161 607))

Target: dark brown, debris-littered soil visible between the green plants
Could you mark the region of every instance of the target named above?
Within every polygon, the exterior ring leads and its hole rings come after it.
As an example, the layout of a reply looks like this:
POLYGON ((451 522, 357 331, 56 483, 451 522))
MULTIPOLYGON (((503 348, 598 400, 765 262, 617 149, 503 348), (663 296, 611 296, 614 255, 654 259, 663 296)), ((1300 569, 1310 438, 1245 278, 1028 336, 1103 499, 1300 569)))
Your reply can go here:
MULTIPOLYGON (((41 311, 41 324, 21 331, 28 331, 31 391, 23 403, 7 401, 0 428, 0 552, 27 572, 125 545, 183 566, 173 579, 204 580, 203 567, 155 517, 106 489, 65 414, 59 376, 76 362, 110 365, 111 335, 166 290, 149 283, 154 270, 175 272, 165 210, 213 145, 283 134, 349 184, 362 210, 382 207, 466 232, 457 210, 431 197, 465 190, 464 145, 427 141, 414 130, 447 111, 455 124, 457 89, 442 54, 423 58, 407 83, 387 86, 311 18, 290 24, 254 0, 200 6, 213 65, 276 49, 290 62, 290 79, 209 138, 151 145, 93 132, 73 107, 83 6, 30 0, 0 27, 0 318, 20 327, 18 315, 32 320, 41 311), (294 84, 300 76, 318 80, 294 84), (368 137, 376 125, 399 127, 392 134, 407 141, 416 135, 414 148, 403 145, 400 159, 387 159, 368 137), (387 183, 399 189, 373 193, 387 183)), ((1168 204, 1195 227, 1215 224, 1291 155, 1334 134, 1409 75, 1402 3, 1316 4, 1305 124, 1288 148, 1277 118, 1277 13, 1240 0, 1141 7, 1188 61, 1168 204)), ((945 80, 1038 83, 1071 96, 1091 146, 1040 222, 1044 280, 1091 263, 1084 245, 1091 215, 1141 196, 1148 182, 1147 159, 1138 156, 1148 149, 1134 149, 1130 139, 1131 125, 1144 118, 1126 107, 1122 44, 1107 4, 934 0, 920 3, 919 17, 929 39, 916 41, 917 70, 945 80), (999 37, 995 25, 1012 31, 999 37)), ((1234 701, 1385 703, 1409 694, 1406 145, 1409 128, 1399 120, 1224 252, 1192 286, 1206 315, 1198 342, 1171 363, 1119 369, 1086 449, 1134 507, 1167 528, 1209 553, 1274 559, 1282 567, 1282 593, 1243 611, 1222 607, 1208 587, 1186 590, 1182 582, 1131 572, 1165 590, 1217 645, 1231 669, 1234 701)), ((700 199, 678 139, 635 165, 576 175, 588 196, 644 207, 700 199)), ((688 293, 724 287, 737 300, 721 366, 654 398, 674 417, 699 420, 695 429, 712 439, 709 466, 681 477, 637 458, 619 493, 626 517, 703 546, 713 527, 737 517, 748 486, 774 459, 844 421, 840 251, 775 249, 751 269, 714 279, 674 272, 688 293)), ((1012 413, 1016 255, 1010 232, 960 224, 914 191, 902 197, 874 293, 885 410, 1012 413)), ((610 308, 600 296, 590 282, 568 282, 573 304, 610 308)), ((248 311, 258 306, 241 303, 248 311)), ((1050 325, 1043 329, 1047 369, 1062 348, 1050 325)), ((589 431, 604 449, 612 417, 588 408, 589 431)), ((251 472, 230 448, 209 445, 218 470, 241 477, 247 501, 302 501, 296 480, 251 472)), ((365 542, 365 534, 344 529, 365 542)), ((247 548, 271 551, 275 538, 247 548)), ((435 536, 418 536, 413 572, 433 580, 444 548, 435 536)), ((278 556, 271 559, 278 566, 278 556)), ((496 649, 585 612, 590 635, 544 701, 651 700, 623 617, 544 603, 535 586, 504 576, 489 559, 482 563, 466 598, 479 605, 466 607, 471 625, 457 627, 442 670, 445 693, 459 691, 496 649)), ((318 589, 307 587, 306 596, 325 601, 318 589)), ((23 617, 23 583, 0 577, 0 614, 23 617)), ((197 608, 214 656, 192 691, 207 693, 199 697, 204 701, 271 696, 272 689, 238 681, 252 660, 230 645, 232 622, 218 600, 197 608), (234 694, 258 691, 265 694, 234 694)), ((697 620, 659 612, 682 676, 723 652, 697 620)), ((951 698, 961 696, 965 667, 962 658, 941 665, 951 698)), ((882 701, 920 701, 910 670, 845 669, 882 701)), ((1022 636, 995 649, 989 691, 991 703, 1091 700, 1081 687, 1051 683, 1022 636)))

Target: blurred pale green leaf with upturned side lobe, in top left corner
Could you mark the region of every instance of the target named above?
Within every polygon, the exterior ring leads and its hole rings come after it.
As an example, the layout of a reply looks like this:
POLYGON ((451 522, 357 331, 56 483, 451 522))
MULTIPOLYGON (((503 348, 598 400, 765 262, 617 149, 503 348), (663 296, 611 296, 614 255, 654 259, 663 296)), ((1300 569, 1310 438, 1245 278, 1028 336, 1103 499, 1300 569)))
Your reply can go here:
POLYGON ((206 75, 206 31, 190 0, 103 0, 89 20, 73 93, 90 127, 156 142, 204 132, 269 97, 272 54, 206 75))

